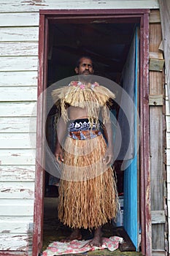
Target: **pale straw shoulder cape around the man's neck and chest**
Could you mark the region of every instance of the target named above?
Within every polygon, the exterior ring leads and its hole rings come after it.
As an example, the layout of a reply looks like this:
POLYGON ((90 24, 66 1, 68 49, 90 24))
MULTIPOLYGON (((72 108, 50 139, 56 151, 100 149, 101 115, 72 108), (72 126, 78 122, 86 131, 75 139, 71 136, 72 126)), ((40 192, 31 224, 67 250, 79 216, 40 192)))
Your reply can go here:
POLYGON ((80 81, 72 81, 69 86, 63 86, 52 92, 53 101, 61 107, 61 115, 68 121, 66 105, 85 108, 88 111, 88 118, 98 118, 99 111, 102 110, 103 123, 109 121, 110 99, 115 99, 115 94, 98 83, 84 84, 80 81))

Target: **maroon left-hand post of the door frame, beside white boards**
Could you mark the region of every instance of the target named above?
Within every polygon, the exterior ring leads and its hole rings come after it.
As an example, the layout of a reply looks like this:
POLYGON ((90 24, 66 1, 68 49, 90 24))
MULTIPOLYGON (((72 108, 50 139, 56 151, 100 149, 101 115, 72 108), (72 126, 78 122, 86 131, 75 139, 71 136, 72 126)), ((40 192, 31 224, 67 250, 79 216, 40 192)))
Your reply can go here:
MULTIPOLYGON (((47 77, 44 74, 44 61, 47 60, 47 45, 45 46, 46 41, 44 39, 44 33, 47 33, 47 22, 45 23, 45 15, 40 15, 39 17, 39 78, 38 78, 38 97, 41 95, 43 89, 45 89, 47 84, 47 77), (46 30, 45 30, 46 29, 46 30), (45 53, 46 47, 46 53, 45 53), (45 75, 45 77, 44 77, 45 75), (46 84, 45 84, 46 83, 46 84)), ((47 65, 45 65, 45 69, 47 65)), ((45 99, 39 97, 37 102, 37 111, 39 115, 36 119, 37 124, 37 138, 36 138, 36 177, 35 177, 35 200, 34 200, 34 236, 33 236, 33 255, 37 255, 41 252, 42 249, 42 227, 43 219, 41 214, 43 213, 44 200, 42 195, 44 195, 44 181, 45 181, 45 172, 41 165, 45 159, 44 148, 42 148, 42 138, 45 138, 45 121, 42 120, 42 116, 45 110, 45 99)))

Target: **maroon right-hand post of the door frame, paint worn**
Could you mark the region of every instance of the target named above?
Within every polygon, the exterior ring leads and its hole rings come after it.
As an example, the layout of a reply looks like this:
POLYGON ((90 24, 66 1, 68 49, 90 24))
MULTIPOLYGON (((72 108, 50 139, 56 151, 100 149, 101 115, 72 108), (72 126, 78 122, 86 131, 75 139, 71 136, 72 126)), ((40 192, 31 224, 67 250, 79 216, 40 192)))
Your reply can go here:
POLYGON ((140 182, 141 182, 141 226, 146 240, 142 238, 142 252, 147 256, 152 255, 152 237, 151 230, 151 214, 150 214, 150 134, 149 134, 149 20, 148 16, 144 15, 144 23, 141 28, 141 67, 142 75, 140 76, 140 118, 141 118, 141 150, 140 150, 140 182), (145 40, 144 40, 145 39, 145 40))

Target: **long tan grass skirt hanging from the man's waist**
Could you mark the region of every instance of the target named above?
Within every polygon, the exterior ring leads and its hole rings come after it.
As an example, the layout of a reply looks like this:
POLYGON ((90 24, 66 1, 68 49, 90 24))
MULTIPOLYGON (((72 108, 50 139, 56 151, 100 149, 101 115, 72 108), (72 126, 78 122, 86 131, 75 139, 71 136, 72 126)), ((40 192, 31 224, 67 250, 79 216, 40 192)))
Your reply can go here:
POLYGON ((116 217, 117 189, 112 167, 104 165, 106 147, 102 135, 66 138, 58 206, 64 225, 92 229, 116 217))

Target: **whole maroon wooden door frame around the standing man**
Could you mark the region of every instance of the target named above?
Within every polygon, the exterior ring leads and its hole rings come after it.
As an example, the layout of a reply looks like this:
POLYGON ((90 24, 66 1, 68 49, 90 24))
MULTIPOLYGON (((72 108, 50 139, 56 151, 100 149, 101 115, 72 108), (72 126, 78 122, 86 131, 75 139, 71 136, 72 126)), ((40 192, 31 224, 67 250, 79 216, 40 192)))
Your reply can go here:
MULTIPOLYGON (((39 12, 39 74, 38 97, 47 85, 47 38, 49 23, 85 23, 101 20, 101 23, 140 24, 140 67, 139 67, 139 115, 141 121, 140 140, 140 218, 142 227, 142 254, 152 255, 152 225, 150 214, 150 134, 149 134, 149 10, 40 10, 39 12)), ((34 200, 33 256, 42 249, 44 212, 45 170, 40 160, 45 161, 42 138, 45 138, 45 99, 37 101, 36 178, 34 200)))

